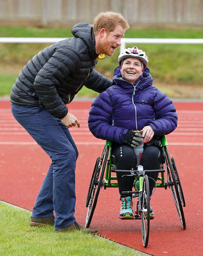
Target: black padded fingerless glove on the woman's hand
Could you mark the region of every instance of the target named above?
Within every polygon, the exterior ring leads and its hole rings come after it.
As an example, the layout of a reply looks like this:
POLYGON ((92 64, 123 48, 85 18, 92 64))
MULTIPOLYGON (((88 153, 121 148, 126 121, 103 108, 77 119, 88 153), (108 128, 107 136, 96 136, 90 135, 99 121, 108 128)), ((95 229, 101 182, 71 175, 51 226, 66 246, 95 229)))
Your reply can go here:
POLYGON ((130 147, 137 147, 143 142, 142 133, 140 131, 128 130, 124 135, 124 143, 130 147))

